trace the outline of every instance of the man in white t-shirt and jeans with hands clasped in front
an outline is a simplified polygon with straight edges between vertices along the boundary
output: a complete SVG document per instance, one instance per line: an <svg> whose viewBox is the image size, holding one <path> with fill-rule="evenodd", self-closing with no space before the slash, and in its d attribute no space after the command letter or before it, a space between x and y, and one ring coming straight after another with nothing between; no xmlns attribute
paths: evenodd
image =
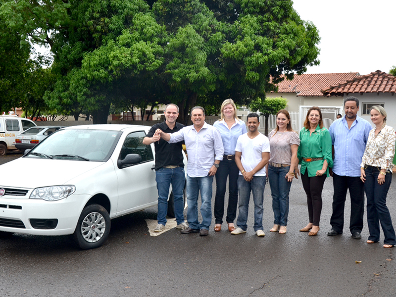
<svg viewBox="0 0 396 297"><path fill-rule="evenodd" d="M241 135L235 148L235 163L240 170L238 178L239 215L238 228L231 234L245 233L247 230L247 215L250 192L254 201L254 226L257 236L265 236L263 231L263 199L266 182L265 165L269 160L269 141L258 132L260 125L257 113L247 115L248 132Z"/></svg>

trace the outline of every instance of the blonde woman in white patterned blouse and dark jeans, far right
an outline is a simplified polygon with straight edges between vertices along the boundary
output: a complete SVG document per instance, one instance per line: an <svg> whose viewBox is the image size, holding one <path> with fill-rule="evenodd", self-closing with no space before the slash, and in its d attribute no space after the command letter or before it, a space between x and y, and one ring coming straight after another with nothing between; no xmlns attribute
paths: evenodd
<svg viewBox="0 0 396 297"><path fill-rule="evenodd" d="M386 205L392 182L393 158L395 155L395 130L386 125L387 113L382 106L370 110L375 128L370 131L366 149L360 164L360 179L367 197L367 224L370 236L368 244L380 240L380 223L384 232L384 247L396 245L395 230Z"/></svg>

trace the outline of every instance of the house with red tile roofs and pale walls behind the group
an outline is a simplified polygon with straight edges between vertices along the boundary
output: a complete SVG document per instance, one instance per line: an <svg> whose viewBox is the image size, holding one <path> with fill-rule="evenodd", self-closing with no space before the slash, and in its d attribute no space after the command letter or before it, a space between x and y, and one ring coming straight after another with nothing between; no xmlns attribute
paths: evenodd
<svg viewBox="0 0 396 297"><path fill-rule="evenodd" d="M369 113L373 105L396 111L395 91L396 77L377 70L367 75L358 72L295 75L293 80L279 83L278 92L266 95L289 100L287 110L298 112L298 119L295 117L292 125L299 130L311 106L321 108L324 124L330 127L338 113L344 115L343 101L349 96L359 99L358 115L371 123ZM396 127L396 118L394 122L388 117L388 124Z"/></svg>

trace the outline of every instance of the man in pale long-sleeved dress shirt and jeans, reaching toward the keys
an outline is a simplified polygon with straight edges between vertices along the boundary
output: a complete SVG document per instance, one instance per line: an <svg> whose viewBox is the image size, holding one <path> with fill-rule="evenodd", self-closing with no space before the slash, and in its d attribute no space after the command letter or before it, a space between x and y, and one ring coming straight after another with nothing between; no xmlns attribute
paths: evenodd
<svg viewBox="0 0 396 297"><path fill-rule="evenodd" d="M200 236L209 234L212 221L212 183L217 167L223 159L224 148L220 132L205 122L205 110L196 106L191 109L192 126L187 126L172 134L161 130L156 133L169 143L183 141L188 154L187 165L187 221L189 227L181 231L183 234L198 233ZM198 221L198 195L201 194L202 222Z"/></svg>

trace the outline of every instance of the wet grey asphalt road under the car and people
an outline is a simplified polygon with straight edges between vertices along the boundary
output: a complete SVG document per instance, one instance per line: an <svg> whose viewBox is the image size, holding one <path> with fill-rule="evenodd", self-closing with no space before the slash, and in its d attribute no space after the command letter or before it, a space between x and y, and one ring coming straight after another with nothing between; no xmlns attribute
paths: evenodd
<svg viewBox="0 0 396 297"><path fill-rule="evenodd" d="M20 155L0 157L0 163ZM38 168L27 171L40 172ZM69 236L1 239L0 296L396 296L396 249L366 244L367 225L361 240L352 239L347 228L348 201L344 234L327 236L332 182L332 178L325 182L321 230L316 237L298 232L308 222L299 179L292 184L285 235L269 232L273 213L267 185L263 238L254 234L250 205L248 230L241 235L231 235L225 223L224 230L215 233L213 221L207 237L182 235L176 229L152 237L148 222L155 220L156 208L151 207L112 220L107 242L97 249L79 250ZM394 221L395 183L388 194Z"/></svg>

